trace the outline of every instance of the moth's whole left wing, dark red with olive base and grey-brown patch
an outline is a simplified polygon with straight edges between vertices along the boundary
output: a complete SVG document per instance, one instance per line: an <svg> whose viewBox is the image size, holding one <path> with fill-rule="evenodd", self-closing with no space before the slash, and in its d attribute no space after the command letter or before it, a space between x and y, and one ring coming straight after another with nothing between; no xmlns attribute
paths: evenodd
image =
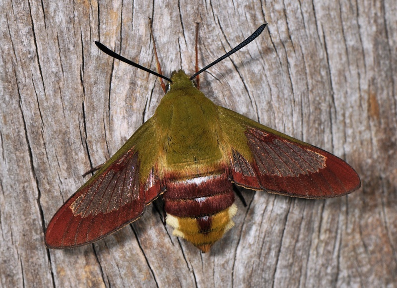
<svg viewBox="0 0 397 288"><path fill-rule="evenodd" d="M99 240L138 219L145 205L164 192L152 130L149 119L58 210L45 234L49 248L72 248Z"/></svg>

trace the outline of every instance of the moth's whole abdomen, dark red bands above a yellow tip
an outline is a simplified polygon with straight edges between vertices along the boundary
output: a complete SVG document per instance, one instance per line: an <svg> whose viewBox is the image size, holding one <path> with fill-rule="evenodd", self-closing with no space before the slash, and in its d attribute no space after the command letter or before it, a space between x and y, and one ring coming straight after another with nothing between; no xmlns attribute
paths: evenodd
<svg viewBox="0 0 397 288"><path fill-rule="evenodd" d="M166 222L173 234L192 242L202 252L234 226L237 212L233 184L226 171L180 178L168 178L163 194Z"/></svg>

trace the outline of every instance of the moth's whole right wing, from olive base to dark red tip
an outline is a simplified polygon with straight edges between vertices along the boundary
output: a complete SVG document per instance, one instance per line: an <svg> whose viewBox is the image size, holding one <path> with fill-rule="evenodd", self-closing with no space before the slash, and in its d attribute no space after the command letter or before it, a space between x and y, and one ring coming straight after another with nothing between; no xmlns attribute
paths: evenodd
<svg viewBox="0 0 397 288"><path fill-rule="evenodd" d="M218 109L235 184L313 199L342 196L360 187L354 169L331 153Z"/></svg>

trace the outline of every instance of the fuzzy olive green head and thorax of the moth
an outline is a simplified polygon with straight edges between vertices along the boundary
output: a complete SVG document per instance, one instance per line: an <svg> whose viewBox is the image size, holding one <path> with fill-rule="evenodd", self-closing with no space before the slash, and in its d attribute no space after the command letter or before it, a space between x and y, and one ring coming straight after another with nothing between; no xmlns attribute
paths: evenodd
<svg viewBox="0 0 397 288"><path fill-rule="evenodd" d="M174 71L172 83L155 114L159 143L164 143L170 169L217 163L219 117L217 106L199 91L183 70Z"/></svg>

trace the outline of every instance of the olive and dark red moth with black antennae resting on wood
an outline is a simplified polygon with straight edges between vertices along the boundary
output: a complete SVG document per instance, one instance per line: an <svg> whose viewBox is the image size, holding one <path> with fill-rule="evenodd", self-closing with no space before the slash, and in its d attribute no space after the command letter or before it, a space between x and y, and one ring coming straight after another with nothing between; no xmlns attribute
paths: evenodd
<svg viewBox="0 0 397 288"><path fill-rule="evenodd" d="M234 225L233 185L309 199L360 187L358 174L343 160L216 106L193 82L258 37L265 25L192 77L179 70L168 79L96 42L105 53L169 84L154 115L52 218L45 234L49 248L97 241L137 220L162 195L174 235L207 252Z"/></svg>

